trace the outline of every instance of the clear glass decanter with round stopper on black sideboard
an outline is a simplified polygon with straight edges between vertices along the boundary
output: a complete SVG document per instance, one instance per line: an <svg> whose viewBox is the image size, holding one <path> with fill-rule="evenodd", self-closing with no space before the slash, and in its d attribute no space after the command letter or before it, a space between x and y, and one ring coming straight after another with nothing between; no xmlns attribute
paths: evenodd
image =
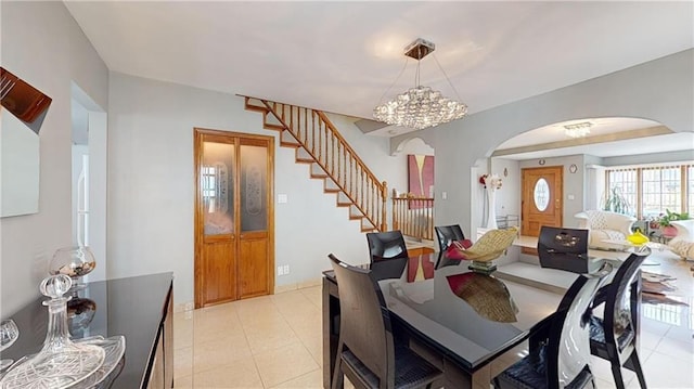
<svg viewBox="0 0 694 389"><path fill-rule="evenodd" d="M72 287L67 275L57 274L44 278L40 290L50 300L48 330L43 348L38 354L12 367L0 380L2 389L65 389L74 387L97 372L103 364L103 348L70 340L67 327L67 301L63 297Z"/></svg>

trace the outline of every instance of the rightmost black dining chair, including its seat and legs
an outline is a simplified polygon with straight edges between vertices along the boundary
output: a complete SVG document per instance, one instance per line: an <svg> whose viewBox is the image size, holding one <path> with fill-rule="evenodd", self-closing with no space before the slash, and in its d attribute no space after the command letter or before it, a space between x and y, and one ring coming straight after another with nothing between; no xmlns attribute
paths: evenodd
<svg viewBox="0 0 694 389"><path fill-rule="evenodd" d="M641 263L650 249L633 252L617 269L612 282L603 286L593 299L593 308L604 304L604 317L590 321L590 351L609 361L615 386L625 388L621 366L637 374L639 385L646 388L638 353L641 308Z"/></svg>

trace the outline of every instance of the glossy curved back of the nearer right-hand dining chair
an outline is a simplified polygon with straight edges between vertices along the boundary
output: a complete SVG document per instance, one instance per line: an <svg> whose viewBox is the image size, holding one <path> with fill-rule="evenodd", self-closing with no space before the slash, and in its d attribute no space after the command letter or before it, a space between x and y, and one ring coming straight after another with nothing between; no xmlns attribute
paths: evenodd
<svg viewBox="0 0 694 389"><path fill-rule="evenodd" d="M590 312L595 291L612 272L612 264L591 275L579 275L568 288L556 312L547 343L547 380L568 386L590 364ZM549 385L548 387L554 387Z"/></svg>

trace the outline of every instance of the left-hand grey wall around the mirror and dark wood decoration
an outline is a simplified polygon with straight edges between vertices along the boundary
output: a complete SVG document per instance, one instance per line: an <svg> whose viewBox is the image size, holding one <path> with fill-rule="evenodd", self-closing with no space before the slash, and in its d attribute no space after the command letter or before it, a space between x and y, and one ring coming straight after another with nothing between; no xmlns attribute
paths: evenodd
<svg viewBox="0 0 694 389"><path fill-rule="evenodd" d="M108 69L60 1L2 1L2 66L53 99L40 131L39 212L0 219L0 316L38 297L72 242L70 80L107 105Z"/></svg>

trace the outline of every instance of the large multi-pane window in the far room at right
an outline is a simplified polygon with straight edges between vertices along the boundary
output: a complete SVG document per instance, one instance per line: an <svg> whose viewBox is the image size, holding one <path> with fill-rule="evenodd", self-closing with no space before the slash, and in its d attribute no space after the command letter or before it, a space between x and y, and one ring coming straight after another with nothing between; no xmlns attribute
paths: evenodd
<svg viewBox="0 0 694 389"><path fill-rule="evenodd" d="M607 191L617 189L632 208L629 213L647 219L665 213L694 211L694 165L639 166L607 169Z"/></svg>

